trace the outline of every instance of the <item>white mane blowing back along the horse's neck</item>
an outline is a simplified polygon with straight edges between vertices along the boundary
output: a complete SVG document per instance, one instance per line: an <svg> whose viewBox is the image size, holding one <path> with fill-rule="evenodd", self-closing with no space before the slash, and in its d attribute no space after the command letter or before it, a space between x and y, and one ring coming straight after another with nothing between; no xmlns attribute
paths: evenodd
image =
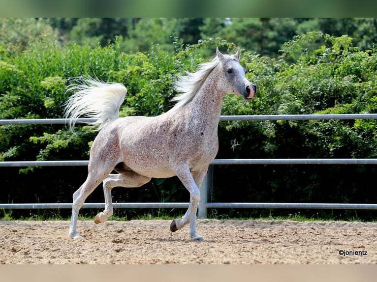
<svg viewBox="0 0 377 282"><path fill-rule="evenodd" d="M231 55L224 55L223 59L219 59L217 56L210 61L201 63L199 69L193 73L187 72L186 76L179 76L178 81L173 85L174 90L182 92L181 94L176 95L171 99L171 101L176 101L174 108L179 108L186 105L195 94L199 91L203 82L207 79L211 71L216 68L221 62L225 63L226 61L234 58Z"/></svg>

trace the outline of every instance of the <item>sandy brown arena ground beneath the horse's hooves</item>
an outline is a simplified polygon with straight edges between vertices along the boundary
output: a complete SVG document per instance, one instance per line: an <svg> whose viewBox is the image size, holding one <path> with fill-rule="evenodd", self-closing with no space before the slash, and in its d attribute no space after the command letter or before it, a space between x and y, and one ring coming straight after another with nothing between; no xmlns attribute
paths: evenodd
<svg viewBox="0 0 377 282"><path fill-rule="evenodd" d="M0 221L0 264L376 264L377 223L198 220ZM343 253L342 253L343 252Z"/></svg>

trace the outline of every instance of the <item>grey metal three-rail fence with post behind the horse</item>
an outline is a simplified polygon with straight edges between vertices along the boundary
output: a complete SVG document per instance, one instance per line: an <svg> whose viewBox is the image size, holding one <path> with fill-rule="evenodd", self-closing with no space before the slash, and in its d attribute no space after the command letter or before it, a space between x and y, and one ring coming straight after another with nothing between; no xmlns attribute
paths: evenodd
<svg viewBox="0 0 377 282"><path fill-rule="evenodd" d="M330 120L330 119L377 119L377 113L364 114L291 114L291 115L222 115L220 121L251 120ZM79 118L77 123L94 122L93 118ZM0 125L69 124L71 119L9 119ZM50 167L87 166L89 161L17 161L0 162L0 167ZM208 208L292 208L292 209L367 209L376 210L377 204L361 203L212 203L208 193L212 187L213 165L376 165L377 159L215 159L200 187L199 217L207 216ZM188 203L113 203L115 208L187 208ZM102 208L104 203L84 203L83 208ZM4 209L63 209L72 203L0 203Z"/></svg>

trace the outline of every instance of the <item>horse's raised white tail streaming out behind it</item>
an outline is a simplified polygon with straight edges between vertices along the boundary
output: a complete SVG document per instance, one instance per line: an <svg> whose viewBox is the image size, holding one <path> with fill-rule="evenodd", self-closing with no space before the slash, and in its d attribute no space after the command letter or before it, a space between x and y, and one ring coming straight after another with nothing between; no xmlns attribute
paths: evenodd
<svg viewBox="0 0 377 282"><path fill-rule="evenodd" d="M65 103L64 116L72 118L69 123L73 128L77 118L86 116L97 118L91 123L100 130L108 121L119 117L119 109L125 100L127 89L120 83L102 83L94 79L84 79L83 84L71 85L69 91L75 91Z"/></svg>

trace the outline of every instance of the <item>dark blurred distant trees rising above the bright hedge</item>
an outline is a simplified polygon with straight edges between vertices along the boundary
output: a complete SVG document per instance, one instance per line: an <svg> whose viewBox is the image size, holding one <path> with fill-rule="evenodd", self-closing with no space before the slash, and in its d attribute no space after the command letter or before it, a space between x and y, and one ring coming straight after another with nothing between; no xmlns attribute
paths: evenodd
<svg viewBox="0 0 377 282"><path fill-rule="evenodd" d="M18 19L15 26L21 30L24 26L33 27L31 21L35 19L28 23ZM126 53L148 52L151 45L157 44L172 51L170 37L173 35L182 38L186 45L220 37L271 57L279 56L283 43L294 35L309 31L336 37L348 34L361 50L372 48L377 40L375 18L49 18L37 23L39 28L35 28L35 34L39 34L41 24L50 23L59 31L61 40L92 47L98 43L112 44L119 37L121 50Z"/></svg>

